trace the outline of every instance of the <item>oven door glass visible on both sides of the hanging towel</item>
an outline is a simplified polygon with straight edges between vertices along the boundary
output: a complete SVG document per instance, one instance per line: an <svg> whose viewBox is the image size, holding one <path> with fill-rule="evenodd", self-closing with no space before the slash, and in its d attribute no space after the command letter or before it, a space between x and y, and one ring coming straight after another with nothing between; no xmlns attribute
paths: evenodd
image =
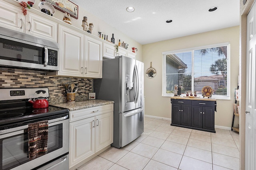
<svg viewBox="0 0 256 170"><path fill-rule="evenodd" d="M48 152L62 148L63 124L48 127ZM28 131L14 136L0 139L2 170L9 170L29 161L28 158Z"/></svg>

